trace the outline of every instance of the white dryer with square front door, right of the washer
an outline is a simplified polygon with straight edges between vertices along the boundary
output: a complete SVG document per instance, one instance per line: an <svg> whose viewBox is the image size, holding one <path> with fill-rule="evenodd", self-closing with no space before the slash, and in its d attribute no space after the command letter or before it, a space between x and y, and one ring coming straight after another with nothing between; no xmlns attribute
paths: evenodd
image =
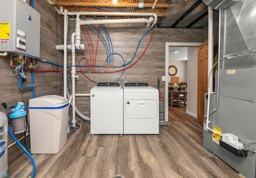
<svg viewBox="0 0 256 178"><path fill-rule="evenodd" d="M159 134L159 91L148 83L124 83L124 134Z"/></svg>

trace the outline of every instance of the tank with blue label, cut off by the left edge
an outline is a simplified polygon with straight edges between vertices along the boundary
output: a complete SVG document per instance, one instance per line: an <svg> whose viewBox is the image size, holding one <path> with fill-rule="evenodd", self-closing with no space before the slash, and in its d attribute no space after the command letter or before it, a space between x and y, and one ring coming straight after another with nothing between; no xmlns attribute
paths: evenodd
<svg viewBox="0 0 256 178"><path fill-rule="evenodd" d="M8 120L6 115L0 112L0 176L4 175L8 169L7 133Z"/></svg>

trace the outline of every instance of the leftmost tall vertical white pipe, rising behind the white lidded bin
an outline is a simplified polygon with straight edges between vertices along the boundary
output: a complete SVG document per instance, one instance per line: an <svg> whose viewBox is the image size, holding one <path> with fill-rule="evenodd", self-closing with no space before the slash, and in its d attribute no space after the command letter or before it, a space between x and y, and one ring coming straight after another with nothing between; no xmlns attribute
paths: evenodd
<svg viewBox="0 0 256 178"><path fill-rule="evenodd" d="M67 30L67 10L64 10L64 46L67 46L67 36L68 36L68 30ZM64 98L67 98L67 48L64 47L63 49L63 96Z"/></svg>

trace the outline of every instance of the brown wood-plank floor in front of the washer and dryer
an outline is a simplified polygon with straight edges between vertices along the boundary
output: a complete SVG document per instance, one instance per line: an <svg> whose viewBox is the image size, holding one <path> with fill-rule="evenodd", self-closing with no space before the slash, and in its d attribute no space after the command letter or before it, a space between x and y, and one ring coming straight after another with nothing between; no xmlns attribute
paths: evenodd
<svg viewBox="0 0 256 178"><path fill-rule="evenodd" d="M90 135L90 123L68 135L58 154L32 154L36 178L235 178L238 173L202 148L203 127L182 106L169 107L158 135ZM11 154L11 153L9 153ZM25 153L9 163L10 177L27 178Z"/></svg>

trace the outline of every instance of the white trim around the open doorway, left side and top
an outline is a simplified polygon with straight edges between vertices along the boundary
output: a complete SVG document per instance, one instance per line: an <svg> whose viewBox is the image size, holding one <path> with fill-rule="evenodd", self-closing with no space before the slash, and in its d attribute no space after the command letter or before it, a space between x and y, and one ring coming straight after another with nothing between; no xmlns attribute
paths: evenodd
<svg viewBox="0 0 256 178"><path fill-rule="evenodd" d="M166 42L165 43L165 121L168 121L168 66L169 66L169 47L183 46L195 47L200 46L202 43L186 43L186 42Z"/></svg>

